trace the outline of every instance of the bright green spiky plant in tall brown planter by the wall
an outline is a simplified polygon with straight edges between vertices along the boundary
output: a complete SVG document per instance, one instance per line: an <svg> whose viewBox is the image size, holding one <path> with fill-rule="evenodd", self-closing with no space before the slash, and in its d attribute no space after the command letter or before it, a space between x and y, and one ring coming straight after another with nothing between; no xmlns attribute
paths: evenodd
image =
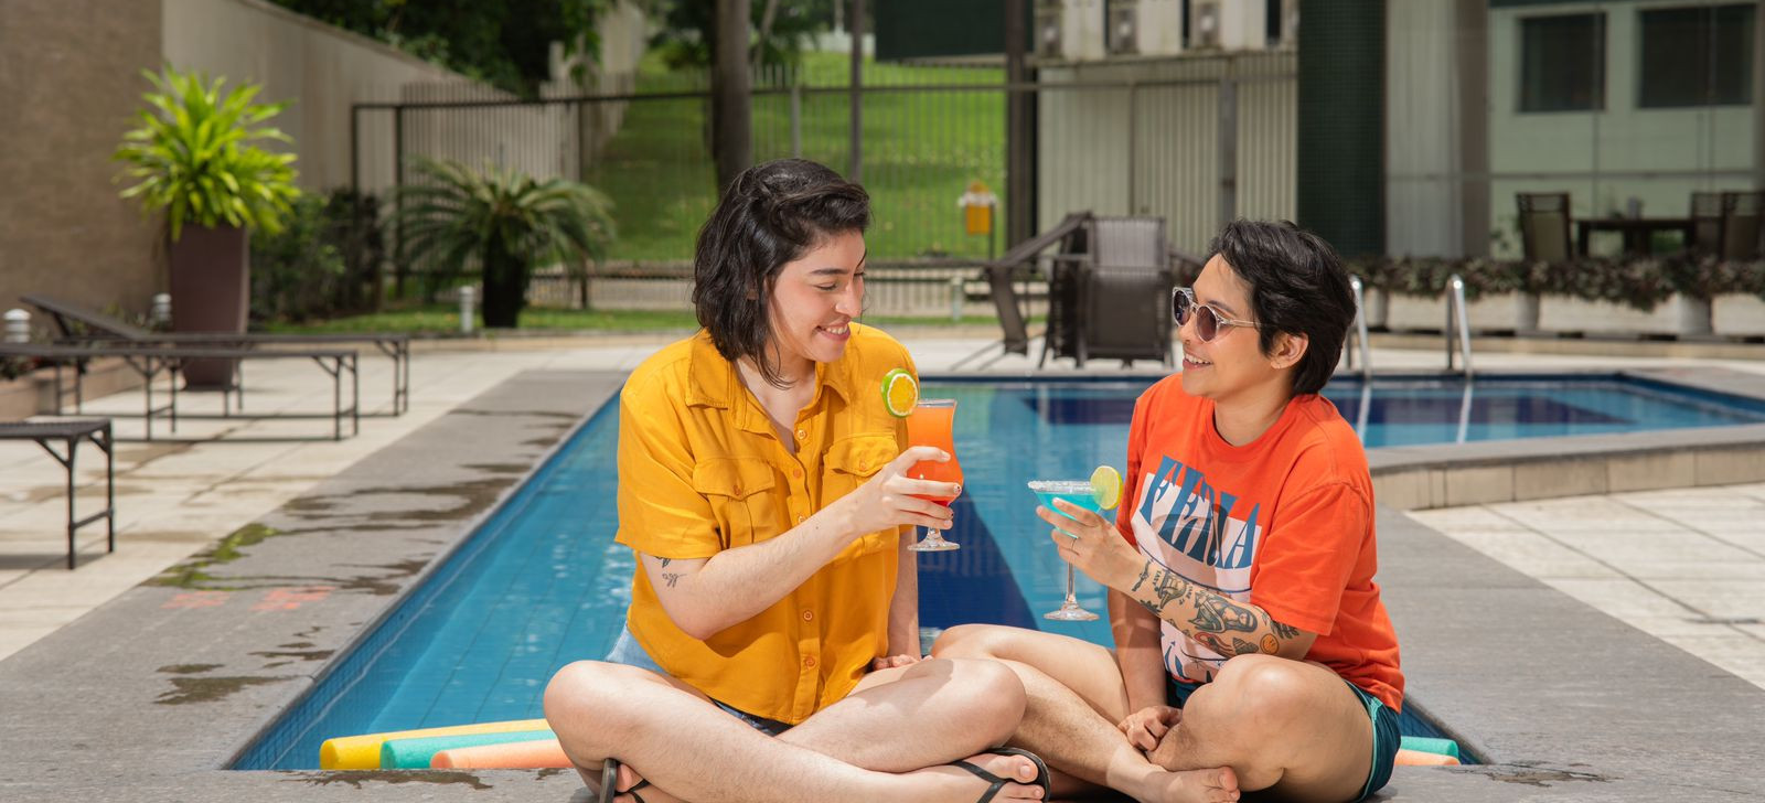
<svg viewBox="0 0 1765 803"><path fill-rule="evenodd" d="M176 332L244 332L251 296L251 229L279 231L295 187L293 154L258 143L291 139L265 120L286 104L258 104L256 85L224 92L224 79L166 67L143 71L154 85L141 99L139 127L124 134L115 159L136 182L122 191L146 212L164 212L171 240L171 326ZM228 360L191 364L189 386L228 386Z"/></svg>

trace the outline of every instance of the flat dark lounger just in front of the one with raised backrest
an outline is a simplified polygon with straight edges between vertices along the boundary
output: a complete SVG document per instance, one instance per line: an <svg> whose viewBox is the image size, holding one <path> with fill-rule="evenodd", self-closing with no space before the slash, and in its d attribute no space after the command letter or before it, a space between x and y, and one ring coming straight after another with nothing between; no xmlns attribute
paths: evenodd
<svg viewBox="0 0 1765 803"><path fill-rule="evenodd" d="M312 360L332 378L332 439L342 439L342 418L349 415L349 434L362 431L362 381L358 356L355 349L258 349L258 348L187 348L187 346L152 346L116 341L97 341L81 346L41 344L41 342L5 342L0 344L0 358L21 356L49 362L55 367L55 415L62 413L65 395L62 367L74 365L74 411L85 406L85 365L102 356L118 356L141 374L146 397L146 439L154 439L154 418L168 415L171 431L178 431L178 383L176 372L191 360ZM171 378L171 402L154 406L154 381L166 374ZM342 378L349 374L349 406L342 406ZM222 392L222 415L231 417L231 399L242 394L238 383ZM240 399L244 399L240 395Z"/></svg>

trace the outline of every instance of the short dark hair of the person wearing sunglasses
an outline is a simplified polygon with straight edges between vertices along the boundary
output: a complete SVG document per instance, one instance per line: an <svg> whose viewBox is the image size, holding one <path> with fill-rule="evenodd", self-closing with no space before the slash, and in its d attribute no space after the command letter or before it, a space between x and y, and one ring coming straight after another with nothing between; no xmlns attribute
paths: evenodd
<svg viewBox="0 0 1765 803"><path fill-rule="evenodd" d="M1290 221L1232 221L1209 251L1250 286L1264 355L1274 351L1281 332L1310 341L1294 371L1294 394L1324 390L1356 314L1354 289L1336 249Z"/></svg>

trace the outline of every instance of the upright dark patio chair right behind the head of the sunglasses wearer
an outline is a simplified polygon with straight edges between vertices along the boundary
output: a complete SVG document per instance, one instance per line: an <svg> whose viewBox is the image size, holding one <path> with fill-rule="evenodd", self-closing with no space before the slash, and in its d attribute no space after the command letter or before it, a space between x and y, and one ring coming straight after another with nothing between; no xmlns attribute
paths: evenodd
<svg viewBox="0 0 1765 803"><path fill-rule="evenodd" d="M1124 365L1160 360L1170 367L1175 272L1170 268L1165 221L1094 217L1087 229L1089 258L1073 275L1078 318L1068 355L1078 367L1098 358L1123 360Z"/></svg>

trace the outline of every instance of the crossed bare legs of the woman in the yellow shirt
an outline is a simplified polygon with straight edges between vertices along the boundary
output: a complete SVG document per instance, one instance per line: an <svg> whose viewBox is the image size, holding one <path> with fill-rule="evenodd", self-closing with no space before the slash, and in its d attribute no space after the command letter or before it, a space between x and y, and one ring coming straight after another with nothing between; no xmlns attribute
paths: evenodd
<svg viewBox="0 0 1765 803"><path fill-rule="evenodd" d="M995 664L925 660L868 674L844 701L770 738L697 690L620 664L577 662L545 688L545 718L584 780L620 759L650 780L646 803L870 801L971 803L987 784L953 766L962 757L1001 777L995 799L1036 799L1036 766L978 755L1004 743L1024 711L1017 676ZM632 798L621 798L632 799Z"/></svg>

